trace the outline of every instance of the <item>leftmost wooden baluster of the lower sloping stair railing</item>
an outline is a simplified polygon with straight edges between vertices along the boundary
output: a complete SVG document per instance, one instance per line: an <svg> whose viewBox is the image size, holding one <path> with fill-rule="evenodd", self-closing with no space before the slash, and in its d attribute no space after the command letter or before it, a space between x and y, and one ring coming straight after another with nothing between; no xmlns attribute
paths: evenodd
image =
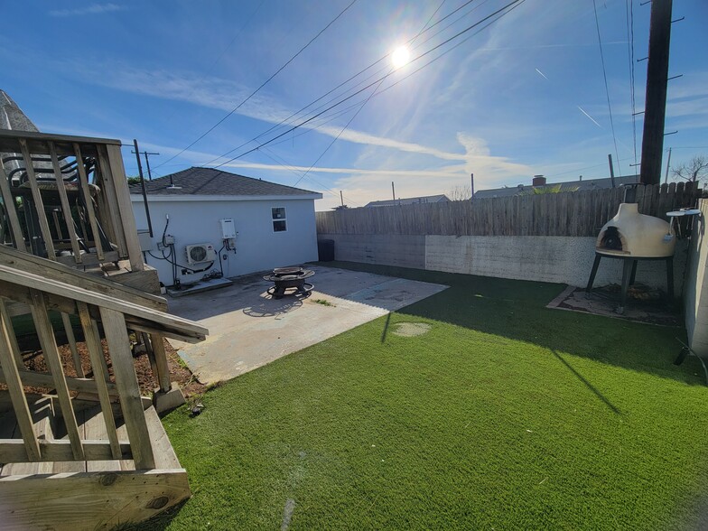
<svg viewBox="0 0 708 531"><path fill-rule="evenodd" d="M19 350L16 350L16 345L17 339L14 337L12 321L9 320L7 312L2 312L2 318L0 318L0 365L3 367L7 390L13 402L14 415L17 417L17 424L23 435L27 459L41 461L40 444L34 436L32 415L29 405L27 405L27 398L24 396L20 373L17 370L16 359L19 356Z"/></svg>

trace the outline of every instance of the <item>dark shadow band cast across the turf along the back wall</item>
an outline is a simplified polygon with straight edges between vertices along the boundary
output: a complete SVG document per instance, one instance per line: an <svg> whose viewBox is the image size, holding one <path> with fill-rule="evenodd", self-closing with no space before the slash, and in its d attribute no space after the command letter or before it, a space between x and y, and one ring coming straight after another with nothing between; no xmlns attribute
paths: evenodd
<svg viewBox="0 0 708 531"><path fill-rule="evenodd" d="M352 262L321 265L450 286L402 308L397 312L399 315L448 322L510 340L526 341L553 351L556 357L558 352L563 352L691 385L705 384L698 359L686 359L679 367L673 363L681 348L676 339L685 341L683 327L655 326L546 308L546 304L564 290L565 284ZM382 339L386 338L387 326ZM597 394L592 384L564 359L559 359Z"/></svg>

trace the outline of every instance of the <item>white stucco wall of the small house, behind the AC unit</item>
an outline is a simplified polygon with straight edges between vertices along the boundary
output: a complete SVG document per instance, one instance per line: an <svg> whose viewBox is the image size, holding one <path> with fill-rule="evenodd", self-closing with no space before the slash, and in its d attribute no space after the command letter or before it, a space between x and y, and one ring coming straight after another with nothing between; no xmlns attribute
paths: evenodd
<svg viewBox="0 0 708 531"><path fill-rule="evenodd" d="M133 199L135 223L138 229L147 228L142 197ZM210 243L219 249L223 241L219 219L234 220L238 232L236 254L222 250L224 276L247 275L283 265L299 265L317 260L317 233L314 219L314 200L151 200L148 197L150 217L153 222L151 252L162 256L157 243L163 236L165 216L170 216L167 234L175 240L176 262L193 269L205 265L187 263L185 247L192 244ZM287 230L273 231L271 209L284 207ZM166 254L166 253L165 253ZM157 269L160 281L172 285L172 265L165 260L147 255L146 262ZM209 272L219 271L216 262ZM182 266L177 267L177 278L182 283L199 280L205 273L182 275Z"/></svg>

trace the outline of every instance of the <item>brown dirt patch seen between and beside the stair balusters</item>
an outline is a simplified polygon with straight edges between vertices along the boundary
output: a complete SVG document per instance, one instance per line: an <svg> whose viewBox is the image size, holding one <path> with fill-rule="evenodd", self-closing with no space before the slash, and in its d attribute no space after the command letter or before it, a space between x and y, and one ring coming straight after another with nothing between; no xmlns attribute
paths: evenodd
<svg viewBox="0 0 708 531"><path fill-rule="evenodd" d="M113 376L113 367L111 365L110 357L108 356L106 340L101 341L103 346L103 356L106 359L108 374L110 380L115 382ZM78 341L77 350L79 351L79 357L81 358L81 367L83 368L85 377L93 377L93 368L89 360L89 352L86 349L86 343L83 341ZM180 359L177 352L172 349L172 345L166 340L164 341L164 349L167 354L167 365L170 369L170 380L172 382L177 382L182 388L182 393L185 397L200 395L206 390L206 386L200 383L200 381L191 374L189 368L187 368ZM59 347L59 353L61 357L61 364L64 368L64 374L69 377L77 377L76 368L74 367L73 358L71 356L71 350L69 345L61 345ZM36 372L49 372L47 368L46 361L44 360L44 355L42 350L26 350L23 351L23 362L24 367L27 370L33 370ZM140 393L143 396L152 396L157 383L153 377L153 369L150 367L150 360L147 354L141 353L133 357L133 362L135 366L135 375L137 376L138 385L140 386ZM0 389L6 389L4 384L0 384ZM47 393L51 389L43 387L30 387L25 386L25 393Z"/></svg>

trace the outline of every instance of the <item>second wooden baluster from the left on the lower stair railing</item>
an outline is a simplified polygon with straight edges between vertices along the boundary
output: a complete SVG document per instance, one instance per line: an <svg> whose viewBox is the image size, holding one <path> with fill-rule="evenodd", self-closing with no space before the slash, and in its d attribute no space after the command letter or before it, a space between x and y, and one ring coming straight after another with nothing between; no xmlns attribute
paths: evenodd
<svg viewBox="0 0 708 531"><path fill-rule="evenodd" d="M71 452L74 455L74 460L84 461L85 457L83 447L81 446L81 438L79 436L79 425L76 422L74 408L71 405L69 387L67 387L66 379L64 377L64 369L61 366L59 349L57 348L57 341L54 338L54 330L51 327L51 321L49 319L49 314L47 313L46 301L43 293L37 290L31 289L30 295L32 296L32 304L30 305L30 309L32 310L34 326L37 329L37 336L40 340L40 345L42 346L44 361L47 363L47 367L51 369L51 376L54 378L54 387L57 391L57 399L61 407L61 415L64 418L64 424L66 424L67 434L69 435Z"/></svg>

